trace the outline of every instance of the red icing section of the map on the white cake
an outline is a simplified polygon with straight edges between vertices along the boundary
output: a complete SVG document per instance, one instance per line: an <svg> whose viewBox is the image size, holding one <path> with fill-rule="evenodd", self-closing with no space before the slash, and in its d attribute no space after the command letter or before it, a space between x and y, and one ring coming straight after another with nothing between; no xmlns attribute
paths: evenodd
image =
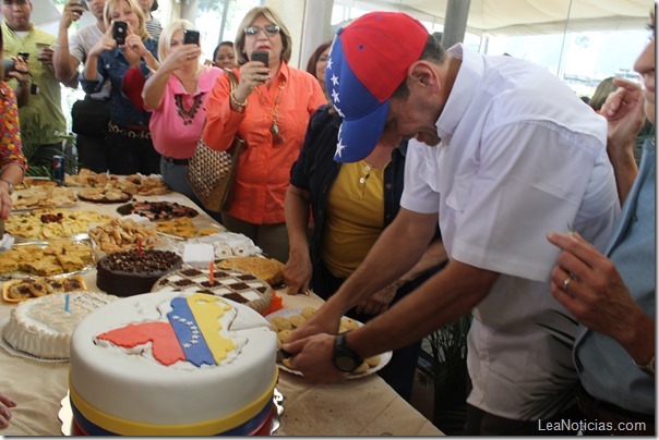
<svg viewBox="0 0 659 440"><path fill-rule="evenodd" d="M124 349L133 349L152 342L153 355L163 365L185 360L183 350L169 322L129 323L125 327L106 331L97 338Z"/></svg>

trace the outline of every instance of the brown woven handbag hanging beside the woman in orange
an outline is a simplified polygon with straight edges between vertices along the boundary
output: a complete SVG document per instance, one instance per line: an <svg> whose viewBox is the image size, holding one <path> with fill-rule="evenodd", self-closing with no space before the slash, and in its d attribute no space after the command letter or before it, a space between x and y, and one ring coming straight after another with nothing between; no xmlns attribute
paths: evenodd
<svg viewBox="0 0 659 440"><path fill-rule="evenodd" d="M238 80L230 70L226 70L226 72L229 75L231 91L233 91L238 87ZM229 208L238 157L243 147L244 139L238 135L225 151L214 150L202 138L199 139L194 154L190 158L185 178L207 210L221 212Z"/></svg>

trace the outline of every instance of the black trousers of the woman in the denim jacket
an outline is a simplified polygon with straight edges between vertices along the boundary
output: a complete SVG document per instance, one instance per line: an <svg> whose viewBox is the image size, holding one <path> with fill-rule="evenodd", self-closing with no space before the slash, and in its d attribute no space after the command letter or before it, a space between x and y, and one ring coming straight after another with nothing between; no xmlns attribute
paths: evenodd
<svg viewBox="0 0 659 440"><path fill-rule="evenodd" d="M108 168L110 173L159 174L160 154L149 138L130 137L122 133L108 133Z"/></svg>

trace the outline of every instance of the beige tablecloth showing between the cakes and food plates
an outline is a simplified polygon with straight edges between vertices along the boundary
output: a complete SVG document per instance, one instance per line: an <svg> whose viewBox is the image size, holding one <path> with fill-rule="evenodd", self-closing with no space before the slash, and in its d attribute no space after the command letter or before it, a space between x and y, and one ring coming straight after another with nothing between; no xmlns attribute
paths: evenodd
<svg viewBox="0 0 659 440"><path fill-rule="evenodd" d="M140 197L148 199L148 197ZM200 210L200 221L213 222L189 198L169 194L153 198L178 201ZM115 213L117 205L79 203L73 209L97 209ZM89 290L96 288L96 271L83 278ZM315 295L289 296L279 293L284 307L320 306ZM9 318L13 304L1 302L0 326ZM0 349L0 392L17 406L2 436L59 436L61 400L67 395L69 363L46 363L13 356ZM284 415L277 436L441 436L442 432L403 400L378 375L334 384L314 384L303 378L280 372L277 390L284 395Z"/></svg>

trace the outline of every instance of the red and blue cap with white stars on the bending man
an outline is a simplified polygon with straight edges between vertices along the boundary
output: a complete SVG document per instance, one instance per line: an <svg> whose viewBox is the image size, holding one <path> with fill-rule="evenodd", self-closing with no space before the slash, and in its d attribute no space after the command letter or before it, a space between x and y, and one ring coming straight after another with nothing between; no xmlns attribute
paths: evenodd
<svg viewBox="0 0 659 440"><path fill-rule="evenodd" d="M339 28L330 50L325 84L343 123L334 160L367 157L382 135L390 98L421 57L428 30L399 12L371 12Z"/></svg>

